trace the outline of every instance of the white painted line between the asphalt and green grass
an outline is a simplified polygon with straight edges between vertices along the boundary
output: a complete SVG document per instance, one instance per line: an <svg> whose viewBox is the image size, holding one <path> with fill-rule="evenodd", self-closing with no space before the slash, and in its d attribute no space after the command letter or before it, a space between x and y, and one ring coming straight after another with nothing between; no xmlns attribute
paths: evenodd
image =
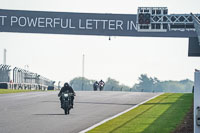
<svg viewBox="0 0 200 133"><path fill-rule="evenodd" d="M137 108L138 106L140 106L140 105L142 105L142 104L144 104L144 103L146 103L146 102L148 102L148 101L150 101L150 100L152 100L152 99L154 99L154 98L156 98L156 97L158 97L158 96L160 96L160 95L162 95L162 94L164 94L164 93L160 93L160 94L158 94L158 95L156 95L156 96L154 96L154 97L152 97L152 98L149 98L149 99L147 99L147 100L145 100L145 101L143 101L143 102L141 102L141 103L139 103L139 104L137 104L137 105L135 105L135 106L133 106L133 107L131 107L131 108L125 110L125 111L123 111L123 112L120 112L120 113L118 113L118 114L116 114L116 115L114 115L114 116L111 116L111 117L109 117L109 118L107 118L107 119L105 119L105 120L103 120L103 121L101 121L101 122L99 122L99 123L97 123L97 124L95 124L95 125L93 125L93 126L87 128L87 129L85 129L85 130L80 131L79 133L86 133L86 132L88 132L88 131L94 129L95 127L98 127L98 126L100 126L101 124L103 124L103 123L105 123L105 122L107 122L107 121L109 121L109 120L112 120L112 119L114 119L114 118L116 118L116 117L118 117L118 116L120 116L120 115L122 115L122 114L124 114L124 113L126 113L126 112L128 112L128 111L130 111L130 110L132 110L132 109L134 109L134 108Z"/></svg>

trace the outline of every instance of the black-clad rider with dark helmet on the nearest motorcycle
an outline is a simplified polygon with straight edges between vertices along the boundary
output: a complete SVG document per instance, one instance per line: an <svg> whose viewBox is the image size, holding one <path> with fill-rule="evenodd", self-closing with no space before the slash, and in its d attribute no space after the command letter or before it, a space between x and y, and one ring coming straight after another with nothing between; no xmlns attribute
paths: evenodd
<svg viewBox="0 0 200 133"><path fill-rule="evenodd" d="M58 97L60 97L61 107L62 107L62 102L63 102L61 94L63 92L73 93L73 95L71 96L71 99L72 99L72 108L73 108L75 92L74 92L73 88L67 82L64 84L64 86L61 88L60 92L58 93Z"/></svg>

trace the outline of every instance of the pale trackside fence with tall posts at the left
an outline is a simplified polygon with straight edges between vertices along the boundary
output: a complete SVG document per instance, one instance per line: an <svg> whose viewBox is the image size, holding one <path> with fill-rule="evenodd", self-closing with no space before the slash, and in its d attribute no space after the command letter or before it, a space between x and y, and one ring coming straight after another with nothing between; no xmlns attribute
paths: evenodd
<svg viewBox="0 0 200 133"><path fill-rule="evenodd" d="M55 81L47 79L37 73L30 72L25 69L11 66L0 65L0 88L5 89L34 89L45 90L54 89ZM11 80L12 72L12 80Z"/></svg>

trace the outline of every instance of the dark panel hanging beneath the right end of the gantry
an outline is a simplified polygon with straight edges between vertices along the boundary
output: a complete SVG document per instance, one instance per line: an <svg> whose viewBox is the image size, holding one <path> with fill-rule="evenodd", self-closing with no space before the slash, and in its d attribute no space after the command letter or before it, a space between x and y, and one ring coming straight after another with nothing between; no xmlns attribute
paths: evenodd
<svg viewBox="0 0 200 133"><path fill-rule="evenodd" d="M200 45L197 37L189 38L188 56L191 57L200 56Z"/></svg>

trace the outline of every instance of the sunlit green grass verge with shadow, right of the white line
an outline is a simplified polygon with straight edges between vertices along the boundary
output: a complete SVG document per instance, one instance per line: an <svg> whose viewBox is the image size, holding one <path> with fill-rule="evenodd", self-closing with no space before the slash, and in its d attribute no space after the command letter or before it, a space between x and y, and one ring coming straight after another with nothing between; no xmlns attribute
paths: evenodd
<svg viewBox="0 0 200 133"><path fill-rule="evenodd" d="M170 133L192 107L193 94L166 93L88 133Z"/></svg>

